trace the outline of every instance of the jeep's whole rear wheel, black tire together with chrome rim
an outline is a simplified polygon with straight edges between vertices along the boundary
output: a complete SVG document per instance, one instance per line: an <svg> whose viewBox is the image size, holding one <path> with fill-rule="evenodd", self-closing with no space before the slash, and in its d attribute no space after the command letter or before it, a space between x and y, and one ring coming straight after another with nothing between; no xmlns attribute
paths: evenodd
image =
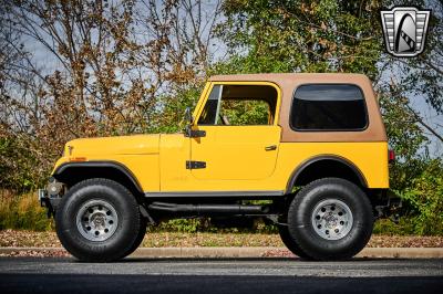
<svg viewBox="0 0 443 294"><path fill-rule="evenodd" d="M343 260L360 252L373 229L365 193L354 183L324 178L307 185L292 200L288 230L313 260Z"/></svg>

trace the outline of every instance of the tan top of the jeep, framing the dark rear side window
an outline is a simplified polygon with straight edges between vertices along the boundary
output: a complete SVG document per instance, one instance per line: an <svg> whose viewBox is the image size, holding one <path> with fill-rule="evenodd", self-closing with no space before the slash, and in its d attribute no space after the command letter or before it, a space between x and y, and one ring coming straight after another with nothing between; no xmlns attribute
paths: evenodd
<svg viewBox="0 0 443 294"><path fill-rule="evenodd" d="M387 134L371 81L363 74L347 73L267 73L215 75L212 82L271 82L281 91L279 125L281 141L387 141ZM363 92L369 116L364 130L296 132L289 126L289 112L295 90L302 84L354 84Z"/></svg>

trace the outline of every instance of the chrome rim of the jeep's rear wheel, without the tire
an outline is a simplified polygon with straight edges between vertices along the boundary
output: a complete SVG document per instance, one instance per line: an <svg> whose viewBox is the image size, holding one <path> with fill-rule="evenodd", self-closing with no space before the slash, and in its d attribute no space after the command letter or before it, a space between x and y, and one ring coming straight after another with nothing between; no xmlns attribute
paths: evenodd
<svg viewBox="0 0 443 294"><path fill-rule="evenodd" d="M320 201L312 212L312 227L326 240L339 240L352 229L353 218L349 207L338 199Z"/></svg>

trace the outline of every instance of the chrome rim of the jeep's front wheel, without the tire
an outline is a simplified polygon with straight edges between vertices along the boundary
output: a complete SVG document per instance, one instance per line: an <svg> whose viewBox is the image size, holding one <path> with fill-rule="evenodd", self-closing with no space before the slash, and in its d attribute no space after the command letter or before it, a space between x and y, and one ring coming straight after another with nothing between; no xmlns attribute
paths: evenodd
<svg viewBox="0 0 443 294"><path fill-rule="evenodd" d="M76 213L76 228L90 241L110 239L119 225L114 207L103 200L90 200Z"/></svg>

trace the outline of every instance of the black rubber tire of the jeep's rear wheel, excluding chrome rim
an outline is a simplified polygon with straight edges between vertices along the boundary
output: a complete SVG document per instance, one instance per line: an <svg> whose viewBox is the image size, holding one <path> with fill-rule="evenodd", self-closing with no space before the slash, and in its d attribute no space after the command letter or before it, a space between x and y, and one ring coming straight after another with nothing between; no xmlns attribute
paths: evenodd
<svg viewBox="0 0 443 294"><path fill-rule="evenodd" d="M322 200L338 199L352 212L350 232L339 240L326 240L312 227L312 212ZM373 228L369 199L354 183L342 179L322 179L305 187L293 199L288 212L288 229L302 251L318 260L348 259L368 243Z"/></svg>

